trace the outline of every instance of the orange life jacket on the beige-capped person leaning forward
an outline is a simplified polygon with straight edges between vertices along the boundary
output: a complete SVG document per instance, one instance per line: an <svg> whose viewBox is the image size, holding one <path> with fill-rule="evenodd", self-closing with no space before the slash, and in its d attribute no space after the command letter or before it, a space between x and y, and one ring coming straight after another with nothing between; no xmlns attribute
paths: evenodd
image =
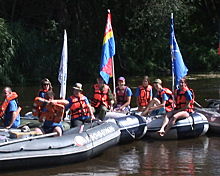
<svg viewBox="0 0 220 176"><path fill-rule="evenodd" d="M168 98L169 98L166 101L165 110L167 112L170 112L173 110L173 93L172 93L172 91L170 89L164 87L164 88L162 88L162 91L157 92L157 95L159 97L160 102L162 102L163 94L165 94L165 93L168 95Z"/></svg>

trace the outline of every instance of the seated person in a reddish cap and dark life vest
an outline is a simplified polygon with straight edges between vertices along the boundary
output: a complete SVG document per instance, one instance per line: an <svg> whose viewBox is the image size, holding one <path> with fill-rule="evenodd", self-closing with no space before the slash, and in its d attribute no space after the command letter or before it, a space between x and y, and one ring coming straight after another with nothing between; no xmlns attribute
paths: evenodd
<svg viewBox="0 0 220 176"><path fill-rule="evenodd" d="M131 96L133 95L131 89L125 86L125 78L118 78L118 86L116 87L116 95L114 95L115 105L114 111L127 113L130 111Z"/></svg>

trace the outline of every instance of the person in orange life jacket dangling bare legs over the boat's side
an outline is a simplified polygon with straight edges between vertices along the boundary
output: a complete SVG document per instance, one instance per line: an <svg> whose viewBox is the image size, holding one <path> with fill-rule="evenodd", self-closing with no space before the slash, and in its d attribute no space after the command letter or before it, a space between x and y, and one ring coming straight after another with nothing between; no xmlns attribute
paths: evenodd
<svg viewBox="0 0 220 176"><path fill-rule="evenodd" d="M186 78L182 78L179 81L179 88L175 91L176 107L173 111L166 114L163 124L158 131L160 136L164 136L178 119L185 119L194 112L194 99L193 90L188 88Z"/></svg>

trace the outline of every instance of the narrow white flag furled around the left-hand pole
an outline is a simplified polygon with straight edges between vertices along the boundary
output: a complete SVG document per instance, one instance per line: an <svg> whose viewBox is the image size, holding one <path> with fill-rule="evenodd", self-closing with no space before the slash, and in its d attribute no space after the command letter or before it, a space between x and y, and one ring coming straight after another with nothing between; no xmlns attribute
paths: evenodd
<svg viewBox="0 0 220 176"><path fill-rule="evenodd" d="M58 80L61 84L60 98L63 98L63 99L65 99L66 97L67 62L68 62L67 34L66 34L66 30L64 30L63 50L62 50L60 69L59 69L59 75L58 75Z"/></svg>

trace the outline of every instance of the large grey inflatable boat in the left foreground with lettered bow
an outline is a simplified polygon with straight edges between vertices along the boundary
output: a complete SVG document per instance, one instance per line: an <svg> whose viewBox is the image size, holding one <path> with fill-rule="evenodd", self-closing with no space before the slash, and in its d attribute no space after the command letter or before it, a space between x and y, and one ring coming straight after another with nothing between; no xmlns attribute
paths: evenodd
<svg viewBox="0 0 220 176"><path fill-rule="evenodd" d="M88 160L119 142L120 129L108 120L64 131L61 137L18 129L0 130L0 170L48 167ZM25 136L25 137L24 137Z"/></svg>

